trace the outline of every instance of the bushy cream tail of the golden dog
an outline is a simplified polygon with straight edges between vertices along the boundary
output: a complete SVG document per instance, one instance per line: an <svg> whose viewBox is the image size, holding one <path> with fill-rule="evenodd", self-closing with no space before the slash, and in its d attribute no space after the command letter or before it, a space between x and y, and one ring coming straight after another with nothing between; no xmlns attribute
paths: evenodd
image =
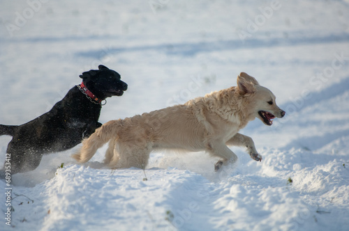
<svg viewBox="0 0 349 231"><path fill-rule="evenodd" d="M101 148L111 138L117 138L117 133L121 127L121 120L106 122L102 127L96 129L96 132L91 134L89 138L82 141L82 148L72 157L79 163L86 163L94 156L98 148Z"/></svg>

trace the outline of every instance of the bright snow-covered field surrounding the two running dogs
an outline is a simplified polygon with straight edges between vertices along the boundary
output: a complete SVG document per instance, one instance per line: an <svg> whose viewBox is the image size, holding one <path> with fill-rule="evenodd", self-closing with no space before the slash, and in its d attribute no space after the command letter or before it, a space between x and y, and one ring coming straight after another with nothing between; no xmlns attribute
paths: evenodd
<svg viewBox="0 0 349 231"><path fill-rule="evenodd" d="M153 153L144 171L103 168L106 147L83 166L78 147L48 154L13 175L11 226L0 180L0 230L349 230L349 1L0 4L0 124L50 110L99 64L129 87L100 122L236 86L239 72L286 111L241 131L262 162L232 147L238 164L221 173L204 152Z"/></svg>

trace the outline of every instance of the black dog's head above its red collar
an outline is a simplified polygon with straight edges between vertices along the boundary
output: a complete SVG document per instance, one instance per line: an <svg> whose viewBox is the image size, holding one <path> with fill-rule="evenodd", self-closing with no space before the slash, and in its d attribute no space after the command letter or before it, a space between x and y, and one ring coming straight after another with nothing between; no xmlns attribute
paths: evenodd
<svg viewBox="0 0 349 231"><path fill-rule="evenodd" d="M121 81L119 73L103 65L99 65L98 69L89 70L80 75L87 89L96 97L103 99L124 94L124 90L127 90L127 84Z"/></svg>

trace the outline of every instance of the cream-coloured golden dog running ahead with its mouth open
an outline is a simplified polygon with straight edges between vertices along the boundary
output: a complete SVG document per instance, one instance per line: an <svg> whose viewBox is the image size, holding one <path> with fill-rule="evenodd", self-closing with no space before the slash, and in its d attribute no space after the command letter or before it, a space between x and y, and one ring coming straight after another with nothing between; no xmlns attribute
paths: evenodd
<svg viewBox="0 0 349 231"><path fill-rule="evenodd" d="M256 117L272 125L272 118L281 118L284 114L276 106L273 93L242 72L237 77L237 87L142 116L106 122L82 141L80 152L73 158L80 163L87 162L98 148L109 142L104 163L110 168L145 168L152 150L175 149L205 150L220 157L215 168L218 170L228 161L237 161L236 154L227 145L244 146L253 159L261 161L252 138L237 132Z"/></svg>

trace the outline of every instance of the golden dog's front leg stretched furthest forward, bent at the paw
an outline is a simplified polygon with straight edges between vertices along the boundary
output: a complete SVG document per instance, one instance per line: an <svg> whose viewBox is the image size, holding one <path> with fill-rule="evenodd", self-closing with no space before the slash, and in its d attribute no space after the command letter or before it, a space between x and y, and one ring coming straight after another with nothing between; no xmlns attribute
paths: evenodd
<svg viewBox="0 0 349 231"><path fill-rule="evenodd" d="M255 161L262 161L262 156L258 154L257 150L255 150L255 143L252 138L249 136L244 136L243 134L235 134L232 136L229 141L226 143L227 145L235 145L235 146L244 146L247 148L248 154Z"/></svg>

